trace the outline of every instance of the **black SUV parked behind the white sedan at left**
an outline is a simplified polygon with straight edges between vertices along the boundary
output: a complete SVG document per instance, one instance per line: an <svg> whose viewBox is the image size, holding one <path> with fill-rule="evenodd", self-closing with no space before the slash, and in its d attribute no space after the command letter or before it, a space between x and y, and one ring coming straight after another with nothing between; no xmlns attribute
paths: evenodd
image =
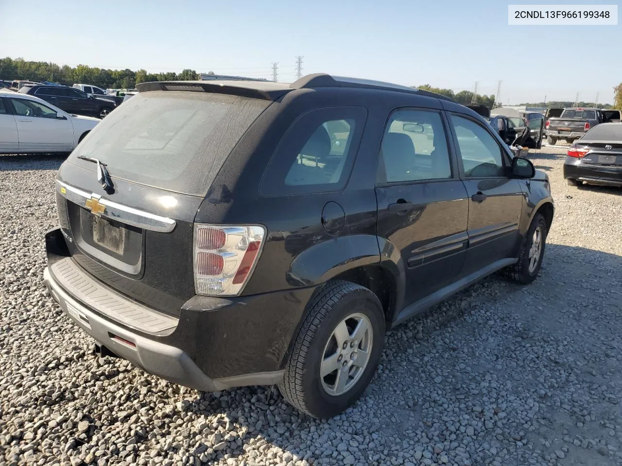
<svg viewBox="0 0 622 466"><path fill-rule="evenodd" d="M79 89L67 86L26 85L20 88L19 92L37 96L75 115L104 118L116 107L110 99L88 96Z"/></svg>

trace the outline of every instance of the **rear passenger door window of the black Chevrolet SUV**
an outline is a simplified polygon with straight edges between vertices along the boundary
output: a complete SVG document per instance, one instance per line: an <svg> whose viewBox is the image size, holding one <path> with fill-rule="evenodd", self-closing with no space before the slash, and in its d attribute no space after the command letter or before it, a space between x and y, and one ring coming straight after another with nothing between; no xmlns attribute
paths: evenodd
<svg viewBox="0 0 622 466"><path fill-rule="evenodd" d="M388 183L451 178L440 114L406 109L392 114L384 132L378 170L378 180Z"/></svg>

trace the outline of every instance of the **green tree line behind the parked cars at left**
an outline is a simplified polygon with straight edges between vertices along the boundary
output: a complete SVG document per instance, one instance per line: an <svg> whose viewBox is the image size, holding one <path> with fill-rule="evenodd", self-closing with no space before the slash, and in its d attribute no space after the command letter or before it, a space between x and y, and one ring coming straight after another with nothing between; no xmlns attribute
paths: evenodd
<svg viewBox="0 0 622 466"><path fill-rule="evenodd" d="M213 75L214 72L210 71ZM197 80L195 70L181 73L147 73L146 70L105 70L93 66L58 66L50 62L29 62L23 58L1 58L0 80L50 81L71 86L75 83L95 85L104 89L133 89L139 83L150 81L189 81Z"/></svg>

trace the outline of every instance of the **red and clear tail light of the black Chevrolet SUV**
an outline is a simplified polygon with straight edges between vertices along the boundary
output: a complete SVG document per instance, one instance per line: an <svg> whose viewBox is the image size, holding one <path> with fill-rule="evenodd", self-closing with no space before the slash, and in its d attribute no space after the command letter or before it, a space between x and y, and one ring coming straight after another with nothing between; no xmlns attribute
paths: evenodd
<svg viewBox="0 0 622 466"><path fill-rule="evenodd" d="M194 276L198 295L236 296L257 263L266 229L195 223Z"/></svg>

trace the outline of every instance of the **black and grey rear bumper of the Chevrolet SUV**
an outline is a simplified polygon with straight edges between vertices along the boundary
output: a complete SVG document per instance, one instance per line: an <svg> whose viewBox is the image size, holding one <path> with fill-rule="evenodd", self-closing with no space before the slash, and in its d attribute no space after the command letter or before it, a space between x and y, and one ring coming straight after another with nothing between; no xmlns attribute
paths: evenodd
<svg viewBox="0 0 622 466"><path fill-rule="evenodd" d="M196 390L273 385L315 287L262 295L193 296L179 318L98 281L68 255L60 229L46 234L44 280L61 308L100 345L158 377Z"/></svg>

